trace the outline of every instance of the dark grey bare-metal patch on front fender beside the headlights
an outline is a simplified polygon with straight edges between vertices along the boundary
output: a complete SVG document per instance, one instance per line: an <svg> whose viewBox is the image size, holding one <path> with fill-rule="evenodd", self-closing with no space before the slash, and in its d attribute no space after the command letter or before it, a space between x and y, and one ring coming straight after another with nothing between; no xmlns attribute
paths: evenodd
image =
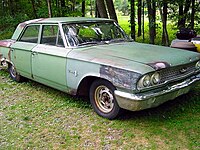
<svg viewBox="0 0 200 150"><path fill-rule="evenodd" d="M136 83L141 74L102 65L100 68L100 76L109 80L117 87L136 90Z"/></svg>

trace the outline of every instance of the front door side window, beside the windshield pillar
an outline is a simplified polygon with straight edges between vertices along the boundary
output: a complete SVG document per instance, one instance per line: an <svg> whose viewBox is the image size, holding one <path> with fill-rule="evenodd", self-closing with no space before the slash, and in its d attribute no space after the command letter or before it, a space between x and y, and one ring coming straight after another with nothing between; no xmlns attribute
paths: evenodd
<svg viewBox="0 0 200 150"><path fill-rule="evenodd" d="M41 44L64 47L60 30L57 25L44 25Z"/></svg>

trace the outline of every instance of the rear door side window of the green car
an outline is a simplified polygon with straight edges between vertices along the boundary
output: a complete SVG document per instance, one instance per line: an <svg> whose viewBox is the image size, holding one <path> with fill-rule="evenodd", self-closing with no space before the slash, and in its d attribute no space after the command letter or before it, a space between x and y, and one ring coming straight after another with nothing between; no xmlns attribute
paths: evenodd
<svg viewBox="0 0 200 150"><path fill-rule="evenodd" d="M29 43L37 43L38 42L38 34L39 34L39 25L32 25L28 26L22 35L22 37L19 39L19 41L22 42L29 42Z"/></svg>

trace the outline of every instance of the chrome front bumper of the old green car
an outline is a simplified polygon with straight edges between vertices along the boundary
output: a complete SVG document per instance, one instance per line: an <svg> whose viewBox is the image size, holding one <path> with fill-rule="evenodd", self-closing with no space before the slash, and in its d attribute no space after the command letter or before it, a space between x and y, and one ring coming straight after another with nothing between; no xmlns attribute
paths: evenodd
<svg viewBox="0 0 200 150"><path fill-rule="evenodd" d="M186 94L192 87L200 83L200 74L192 76L183 82L168 86L165 90L157 92L146 92L139 94L126 93L115 90L115 98L121 108L138 111L151 107L156 107L168 100Z"/></svg>

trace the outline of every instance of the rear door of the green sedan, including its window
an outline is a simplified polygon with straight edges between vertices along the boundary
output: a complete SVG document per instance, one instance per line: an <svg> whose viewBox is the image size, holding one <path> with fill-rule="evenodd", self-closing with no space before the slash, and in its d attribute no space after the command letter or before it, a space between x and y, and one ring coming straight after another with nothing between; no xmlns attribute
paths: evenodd
<svg viewBox="0 0 200 150"><path fill-rule="evenodd" d="M32 76L32 49L38 44L40 25L29 25L20 38L11 45L11 60L20 75Z"/></svg>

